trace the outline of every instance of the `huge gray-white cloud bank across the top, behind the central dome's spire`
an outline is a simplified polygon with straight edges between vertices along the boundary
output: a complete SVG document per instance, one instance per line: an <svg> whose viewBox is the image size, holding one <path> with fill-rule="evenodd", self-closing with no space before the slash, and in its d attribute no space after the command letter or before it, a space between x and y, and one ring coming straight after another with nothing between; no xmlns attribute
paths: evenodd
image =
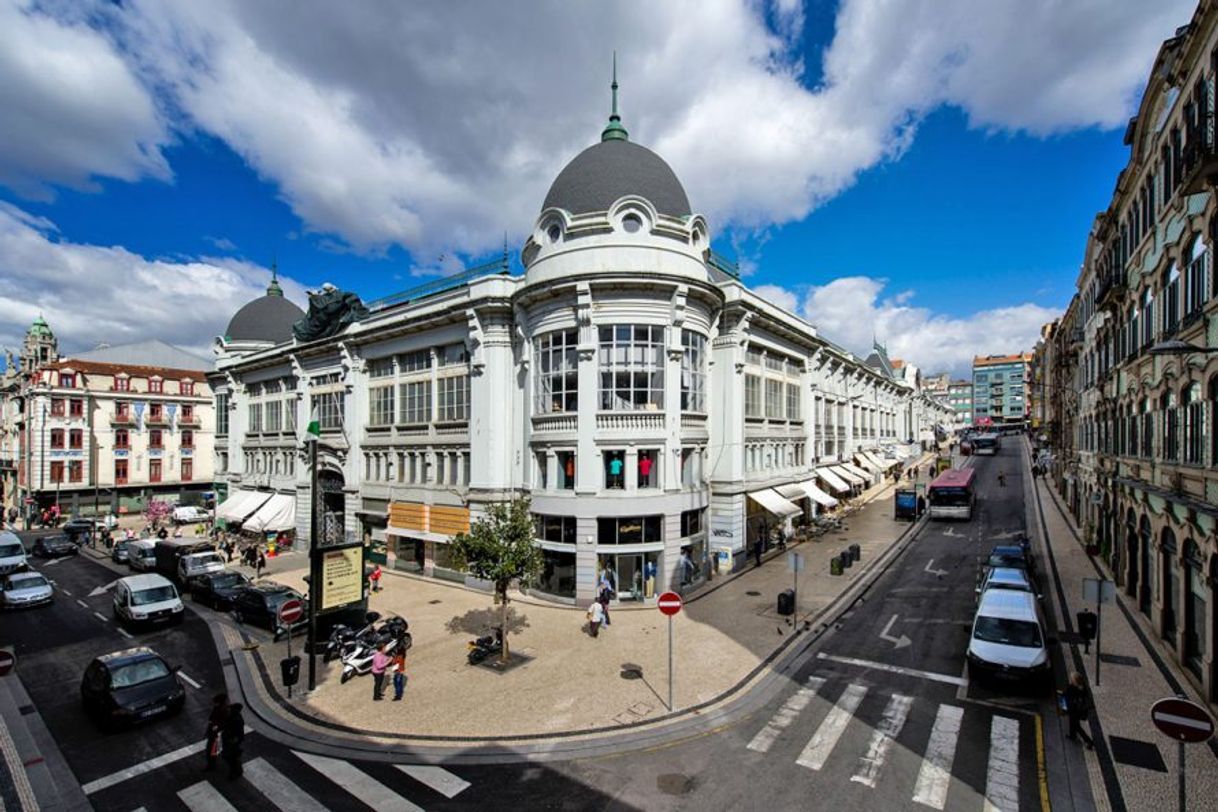
<svg viewBox="0 0 1218 812"><path fill-rule="evenodd" d="M644 0L68 5L58 13L88 18L119 47L99 50L76 21L18 17L80 39L74 51L89 65L114 68L116 52L132 62L102 73L114 74L105 88L128 91L102 96L128 100L104 107L125 151L114 157L105 140L99 155L38 145L45 128L17 138L46 153L23 158L23 169L52 181L163 174L163 134L129 86L139 75L175 128L224 140L307 228L362 251L468 253L530 228L549 181L597 138L618 46L632 138L672 163L715 228L764 229L805 217L899 156L939 105L961 106L983 128L1121 124L1192 5L993 0L979 11L974 0L843 0L815 88L804 79L797 0L705 0L695 12ZM0 86L28 73L12 61L0 61ZM78 95L45 118L73 122Z"/></svg>

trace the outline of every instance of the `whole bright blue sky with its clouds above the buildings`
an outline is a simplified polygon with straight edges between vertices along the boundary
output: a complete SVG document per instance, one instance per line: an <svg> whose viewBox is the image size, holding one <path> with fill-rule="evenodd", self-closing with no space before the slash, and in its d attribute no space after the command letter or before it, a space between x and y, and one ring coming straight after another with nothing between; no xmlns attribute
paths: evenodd
<svg viewBox="0 0 1218 812"><path fill-rule="evenodd" d="M69 351L206 352L273 259L300 302L323 281L365 299L410 287L498 256L504 233L516 262L549 181L603 125L621 43L632 139L672 164L750 285L850 348L876 335L956 371L1029 348L1068 302L1124 122L1191 13L51 9L0 0L7 346L44 312Z"/></svg>

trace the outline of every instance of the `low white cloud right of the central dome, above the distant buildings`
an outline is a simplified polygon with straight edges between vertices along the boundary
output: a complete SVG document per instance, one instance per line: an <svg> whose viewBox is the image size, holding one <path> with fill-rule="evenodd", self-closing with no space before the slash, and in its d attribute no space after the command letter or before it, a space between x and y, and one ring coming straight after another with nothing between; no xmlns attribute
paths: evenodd
<svg viewBox="0 0 1218 812"><path fill-rule="evenodd" d="M801 314L822 336L862 355L871 351L872 338L878 338L890 358L903 358L927 373L946 369L955 374L968 370L974 354L1030 351L1041 325L1058 315L1026 303L949 317L912 304L912 291L882 296L885 284L870 276L843 276L811 287ZM775 301L773 295L767 298Z"/></svg>

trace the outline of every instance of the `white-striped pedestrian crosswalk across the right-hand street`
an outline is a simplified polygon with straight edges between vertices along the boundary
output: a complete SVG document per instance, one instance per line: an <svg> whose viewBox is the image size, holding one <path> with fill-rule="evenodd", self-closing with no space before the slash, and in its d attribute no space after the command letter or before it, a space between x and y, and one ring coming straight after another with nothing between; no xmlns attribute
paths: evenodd
<svg viewBox="0 0 1218 812"><path fill-rule="evenodd" d="M818 701L814 704L814 699ZM800 767L829 774L840 771L843 777L849 774L851 783L875 789L885 780L885 767L900 744L903 757L917 762L917 777L906 796L915 808L945 808L954 785L963 786L959 791L976 797L976 790L965 786L968 782L952 780L954 771L960 768L956 756L966 726L966 709L951 702L938 704L927 733L924 721L921 729L909 724L920 701L933 700L917 700L860 682L849 682L838 689L825 677L809 677L753 735L747 747L759 754L798 751L795 763ZM865 711L866 721L862 718ZM1015 713L1005 715L990 707L973 706L967 712L976 715L968 722L973 726L973 739L979 737L978 726L989 727L988 738L977 744L971 739L965 747L966 752L979 756L978 745L988 743L985 789L979 807L983 812L1017 812L1021 803L1021 729L1030 735L1032 728L1027 722L1021 728L1021 719ZM928 717L929 709L921 718ZM844 747L843 741L853 744ZM912 769L896 772L914 774ZM968 803L957 799L952 808L957 807L968 808Z"/></svg>

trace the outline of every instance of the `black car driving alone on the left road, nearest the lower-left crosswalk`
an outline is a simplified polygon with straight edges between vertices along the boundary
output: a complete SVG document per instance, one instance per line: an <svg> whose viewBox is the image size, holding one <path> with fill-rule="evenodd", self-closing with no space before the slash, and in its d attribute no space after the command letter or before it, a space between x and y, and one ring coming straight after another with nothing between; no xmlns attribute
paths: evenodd
<svg viewBox="0 0 1218 812"><path fill-rule="evenodd" d="M80 681L80 702L104 727L173 716L185 701L177 668L147 646L97 657Z"/></svg>

